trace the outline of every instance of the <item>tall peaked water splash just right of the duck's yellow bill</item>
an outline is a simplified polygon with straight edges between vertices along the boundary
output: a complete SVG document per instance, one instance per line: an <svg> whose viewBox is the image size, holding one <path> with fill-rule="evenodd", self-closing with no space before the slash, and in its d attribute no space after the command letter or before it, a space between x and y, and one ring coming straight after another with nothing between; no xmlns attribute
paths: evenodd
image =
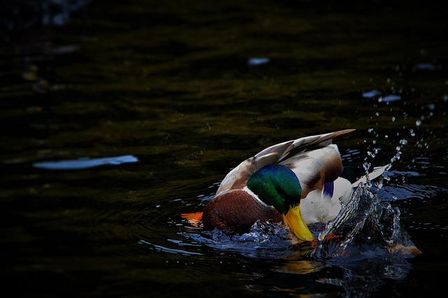
<svg viewBox="0 0 448 298"><path fill-rule="evenodd" d="M359 255L366 250L384 250L385 256L421 253L400 225L400 211L358 185L349 204L318 235L313 252L316 259Z"/></svg>

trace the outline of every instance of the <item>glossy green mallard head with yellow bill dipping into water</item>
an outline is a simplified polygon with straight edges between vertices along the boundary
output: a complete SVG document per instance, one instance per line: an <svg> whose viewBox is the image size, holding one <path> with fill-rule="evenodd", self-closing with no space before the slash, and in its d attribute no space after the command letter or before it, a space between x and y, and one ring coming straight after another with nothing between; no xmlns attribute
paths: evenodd
<svg viewBox="0 0 448 298"><path fill-rule="evenodd" d="M263 166L251 175L246 186L260 201L279 211L283 221L298 239L314 240L300 212L302 187L291 169L280 164Z"/></svg>

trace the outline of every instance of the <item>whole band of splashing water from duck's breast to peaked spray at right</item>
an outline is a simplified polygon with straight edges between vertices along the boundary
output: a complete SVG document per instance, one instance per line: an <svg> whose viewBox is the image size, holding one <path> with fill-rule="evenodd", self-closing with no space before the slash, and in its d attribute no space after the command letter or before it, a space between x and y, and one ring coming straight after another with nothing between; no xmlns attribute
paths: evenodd
<svg viewBox="0 0 448 298"><path fill-rule="evenodd" d="M211 248L249 257L285 257L299 253L314 260L334 260L366 253L371 256L373 252L381 255L380 258L421 253L401 227L399 209L381 201L378 192L372 192L374 189L368 183L360 183L335 220L309 227L317 238L313 243L296 245L286 227L269 220L258 220L244 234L227 234L219 229L182 234Z"/></svg>

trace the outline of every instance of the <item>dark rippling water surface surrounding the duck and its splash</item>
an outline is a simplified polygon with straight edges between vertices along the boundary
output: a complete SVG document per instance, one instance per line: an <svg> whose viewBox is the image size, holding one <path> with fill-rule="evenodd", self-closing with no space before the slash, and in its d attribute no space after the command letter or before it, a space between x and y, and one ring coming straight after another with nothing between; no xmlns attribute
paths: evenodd
<svg viewBox="0 0 448 298"><path fill-rule="evenodd" d="M444 10L417 1L87 2L4 4L5 291L400 297L444 290ZM397 212L421 255L363 242L345 256L313 257L313 248L291 246L281 234L235 241L181 218L202 211L225 174L262 148L346 128L357 130L337 141L344 163L392 162L376 198Z"/></svg>

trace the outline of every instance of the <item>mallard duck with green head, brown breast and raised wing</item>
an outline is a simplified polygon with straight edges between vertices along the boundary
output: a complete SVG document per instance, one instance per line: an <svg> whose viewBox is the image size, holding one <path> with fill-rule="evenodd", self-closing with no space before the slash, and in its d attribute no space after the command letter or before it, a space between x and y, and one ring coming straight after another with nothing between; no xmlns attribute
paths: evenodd
<svg viewBox="0 0 448 298"><path fill-rule="evenodd" d="M334 220L359 183L381 176L388 165L351 183L341 176L333 139L356 129L304 136L265 148L232 169L202 213L183 215L205 230L250 232L258 220L282 222L300 242L313 241L309 225Z"/></svg>

